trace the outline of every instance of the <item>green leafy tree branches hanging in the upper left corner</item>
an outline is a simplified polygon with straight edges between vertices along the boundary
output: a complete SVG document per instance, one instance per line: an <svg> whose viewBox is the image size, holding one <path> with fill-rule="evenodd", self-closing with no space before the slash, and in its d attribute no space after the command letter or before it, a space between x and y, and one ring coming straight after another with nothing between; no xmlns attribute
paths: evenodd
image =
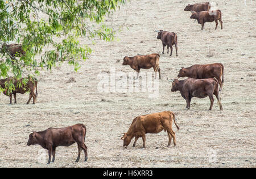
<svg viewBox="0 0 256 179"><path fill-rule="evenodd" d="M40 70L51 70L65 61L77 71L79 61L85 61L92 52L79 39L113 40L114 32L104 25L104 18L123 3L124 0L0 0L0 44L14 41L26 52L13 58L0 46L0 79L10 74L15 78L39 75Z"/></svg>

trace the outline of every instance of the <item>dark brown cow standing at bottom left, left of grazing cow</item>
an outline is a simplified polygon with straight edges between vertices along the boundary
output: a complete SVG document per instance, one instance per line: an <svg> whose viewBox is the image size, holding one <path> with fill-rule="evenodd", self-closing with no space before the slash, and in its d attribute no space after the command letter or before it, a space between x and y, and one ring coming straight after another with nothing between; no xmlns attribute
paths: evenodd
<svg viewBox="0 0 256 179"><path fill-rule="evenodd" d="M85 135L86 127L81 123L64 128L49 128L40 132L33 131L29 136L27 146L38 144L47 149L49 154L49 164L51 163L51 156L53 156L52 163L55 161L56 147L68 147L77 143L79 155L77 156L76 162L79 162L82 150L84 150L86 161L88 156L87 147L84 143Z"/></svg>

